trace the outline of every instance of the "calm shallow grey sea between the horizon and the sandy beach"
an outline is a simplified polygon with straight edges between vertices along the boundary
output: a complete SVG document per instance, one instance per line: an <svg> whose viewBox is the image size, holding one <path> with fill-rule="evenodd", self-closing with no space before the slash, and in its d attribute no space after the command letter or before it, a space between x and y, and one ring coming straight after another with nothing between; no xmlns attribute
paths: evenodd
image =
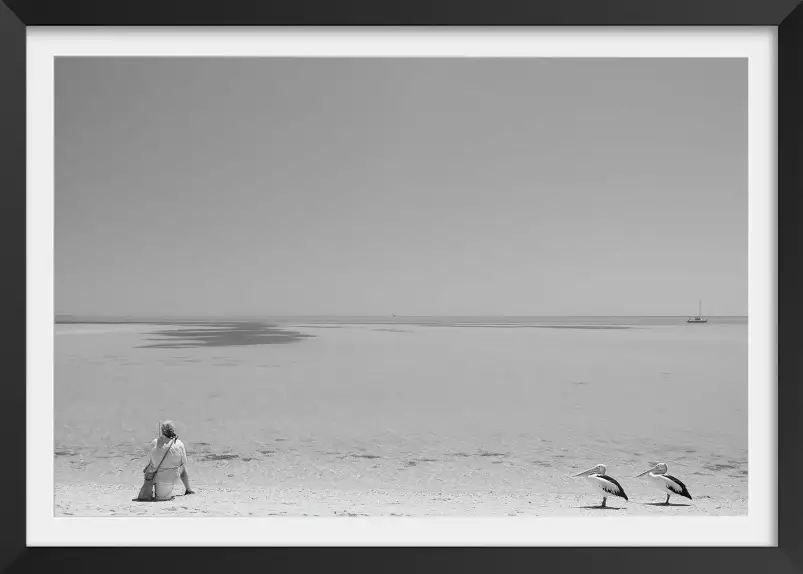
<svg viewBox="0 0 803 574"><path fill-rule="evenodd" d="M169 418L196 484L550 491L664 461L746 497L747 319L685 319L58 323L56 483L137 485Z"/></svg>

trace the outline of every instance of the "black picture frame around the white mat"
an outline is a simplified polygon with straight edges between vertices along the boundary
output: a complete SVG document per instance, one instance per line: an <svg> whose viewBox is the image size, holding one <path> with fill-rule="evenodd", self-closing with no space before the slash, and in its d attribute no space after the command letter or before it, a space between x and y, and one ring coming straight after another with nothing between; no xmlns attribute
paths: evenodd
<svg viewBox="0 0 803 574"><path fill-rule="evenodd" d="M8 572L314 569L366 571L803 572L803 6L800 0L4 0L0 4L0 345L4 437L0 568ZM777 26L778 540L777 548L27 548L26 27L27 26ZM10 326L10 328L9 328ZM783 336L781 336L783 335ZM42 493L52 496L52 493ZM177 526L180 528L180 526ZM611 523L615 527L615 522ZM166 533L169 539L169 533Z"/></svg>

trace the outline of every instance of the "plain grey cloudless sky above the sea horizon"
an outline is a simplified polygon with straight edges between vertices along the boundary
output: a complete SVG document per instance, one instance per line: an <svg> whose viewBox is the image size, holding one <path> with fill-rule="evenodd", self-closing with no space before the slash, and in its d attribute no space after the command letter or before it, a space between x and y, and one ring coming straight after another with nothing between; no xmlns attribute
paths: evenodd
<svg viewBox="0 0 803 574"><path fill-rule="evenodd" d="M741 59L58 58L55 308L747 314Z"/></svg>

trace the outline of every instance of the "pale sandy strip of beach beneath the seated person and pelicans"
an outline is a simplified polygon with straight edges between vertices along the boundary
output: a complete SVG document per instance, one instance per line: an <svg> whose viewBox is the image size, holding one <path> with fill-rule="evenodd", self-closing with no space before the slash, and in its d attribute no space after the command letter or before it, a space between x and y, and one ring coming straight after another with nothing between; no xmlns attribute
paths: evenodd
<svg viewBox="0 0 803 574"><path fill-rule="evenodd" d="M220 487L193 485L195 494L169 501L136 502L136 485L72 482L56 485L55 517L504 517L504 516L746 516L747 497L694 500L673 497L659 503L660 493L625 501L608 498L597 505L592 493L536 493L527 490L431 491L303 487ZM174 492L180 493L176 486Z"/></svg>

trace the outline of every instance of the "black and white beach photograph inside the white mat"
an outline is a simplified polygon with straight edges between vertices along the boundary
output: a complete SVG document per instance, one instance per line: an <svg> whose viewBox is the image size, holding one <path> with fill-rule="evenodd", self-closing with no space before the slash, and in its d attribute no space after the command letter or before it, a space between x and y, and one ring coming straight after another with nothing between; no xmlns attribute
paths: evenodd
<svg viewBox="0 0 803 574"><path fill-rule="evenodd" d="M747 516L746 58L53 87L56 517Z"/></svg>

